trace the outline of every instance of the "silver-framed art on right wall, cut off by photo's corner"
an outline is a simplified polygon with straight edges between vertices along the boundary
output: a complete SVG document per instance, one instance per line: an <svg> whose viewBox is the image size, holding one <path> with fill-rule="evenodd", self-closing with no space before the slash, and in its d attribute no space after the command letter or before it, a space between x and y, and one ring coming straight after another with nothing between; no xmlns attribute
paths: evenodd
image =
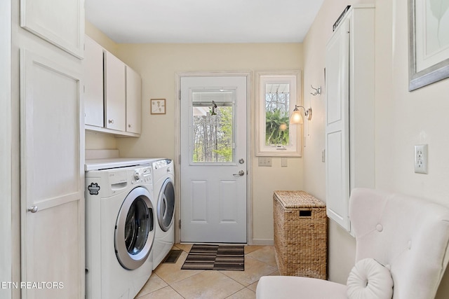
<svg viewBox="0 0 449 299"><path fill-rule="evenodd" d="M449 1L408 0L408 22L412 91L449 77Z"/></svg>

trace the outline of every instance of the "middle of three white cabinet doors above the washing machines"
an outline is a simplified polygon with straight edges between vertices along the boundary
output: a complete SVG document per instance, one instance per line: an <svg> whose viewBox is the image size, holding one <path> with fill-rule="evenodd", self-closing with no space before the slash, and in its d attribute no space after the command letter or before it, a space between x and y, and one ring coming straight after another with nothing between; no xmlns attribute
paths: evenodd
<svg viewBox="0 0 449 299"><path fill-rule="evenodd" d="M105 127L125 131L126 114L125 64L109 52L105 53Z"/></svg>

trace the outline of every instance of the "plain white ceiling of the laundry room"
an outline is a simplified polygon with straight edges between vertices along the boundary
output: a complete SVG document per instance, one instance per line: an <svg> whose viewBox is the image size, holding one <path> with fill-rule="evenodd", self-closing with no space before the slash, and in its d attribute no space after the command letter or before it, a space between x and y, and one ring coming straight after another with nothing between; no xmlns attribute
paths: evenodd
<svg viewBox="0 0 449 299"><path fill-rule="evenodd" d="M116 43L302 42L323 0L86 0Z"/></svg>

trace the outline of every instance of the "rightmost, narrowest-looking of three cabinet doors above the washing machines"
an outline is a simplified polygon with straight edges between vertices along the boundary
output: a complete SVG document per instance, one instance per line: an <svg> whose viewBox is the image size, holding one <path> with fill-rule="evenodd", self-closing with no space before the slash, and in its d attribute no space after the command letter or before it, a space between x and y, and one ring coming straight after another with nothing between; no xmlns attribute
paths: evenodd
<svg viewBox="0 0 449 299"><path fill-rule="evenodd" d="M141 132L142 81L138 73L126 67L126 132Z"/></svg>

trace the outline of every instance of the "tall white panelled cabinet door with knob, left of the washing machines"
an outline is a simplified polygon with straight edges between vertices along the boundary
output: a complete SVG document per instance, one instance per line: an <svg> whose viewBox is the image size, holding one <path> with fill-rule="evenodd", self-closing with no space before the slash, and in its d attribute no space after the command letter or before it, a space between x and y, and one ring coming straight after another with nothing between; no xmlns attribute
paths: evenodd
<svg viewBox="0 0 449 299"><path fill-rule="evenodd" d="M52 55L53 54L53 55ZM22 298L84 298L81 64L20 51ZM39 284L39 283L38 283ZM45 283L42 283L45 284Z"/></svg>

